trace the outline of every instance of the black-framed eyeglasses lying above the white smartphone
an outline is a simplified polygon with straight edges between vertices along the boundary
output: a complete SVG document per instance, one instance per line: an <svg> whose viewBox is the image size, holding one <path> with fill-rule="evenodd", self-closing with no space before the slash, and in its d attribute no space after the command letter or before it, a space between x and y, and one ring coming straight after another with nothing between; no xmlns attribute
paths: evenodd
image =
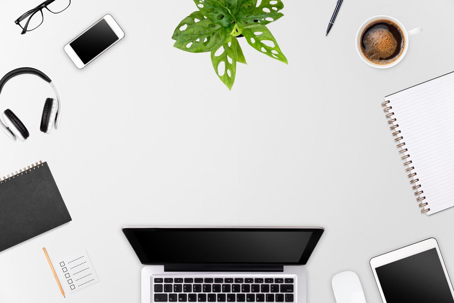
<svg viewBox="0 0 454 303"><path fill-rule="evenodd" d="M29 10L24 15L21 15L14 22L22 28L21 35L26 32L35 30L43 23L43 9L46 8L49 12L58 14L66 10L71 4L71 0L47 0Z"/></svg>

